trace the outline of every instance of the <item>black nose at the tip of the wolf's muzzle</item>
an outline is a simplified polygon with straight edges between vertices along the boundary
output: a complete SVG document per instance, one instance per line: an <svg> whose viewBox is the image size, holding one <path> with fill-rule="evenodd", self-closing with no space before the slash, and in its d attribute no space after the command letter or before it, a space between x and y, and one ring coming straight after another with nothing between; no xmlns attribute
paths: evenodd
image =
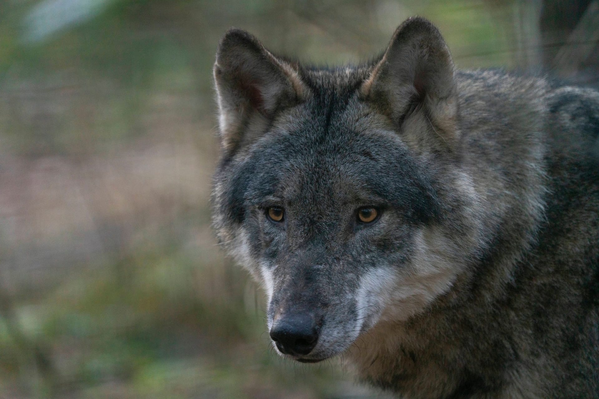
<svg viewBox="0 0 599 399"><path fill-rule="evenodd" d="M318 341L319 327L311 315L290 315L276 321L270 330L279 351L287 355L307 355Z"/></svg>

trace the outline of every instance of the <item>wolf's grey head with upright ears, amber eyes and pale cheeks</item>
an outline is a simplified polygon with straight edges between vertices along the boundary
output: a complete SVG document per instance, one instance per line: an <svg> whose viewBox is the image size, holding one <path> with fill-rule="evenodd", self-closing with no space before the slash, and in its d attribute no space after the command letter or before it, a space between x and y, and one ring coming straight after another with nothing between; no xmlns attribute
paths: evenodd
<svg viewBox="0 0 599 399"><path fill-rule="evenodd" d="M479 240L453 63L409 19L375 62L305 68L231 30L214 65L219 240L268 294L276 348L315 362L452 287Z"/></svg>

